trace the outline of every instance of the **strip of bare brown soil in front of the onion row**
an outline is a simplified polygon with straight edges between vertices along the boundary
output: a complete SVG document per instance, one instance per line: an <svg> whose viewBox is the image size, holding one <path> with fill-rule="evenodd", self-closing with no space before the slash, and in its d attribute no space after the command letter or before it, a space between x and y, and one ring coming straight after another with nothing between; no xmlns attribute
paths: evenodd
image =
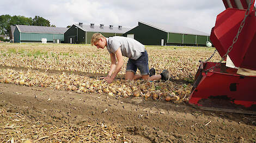
<svg viewBox="0 0 256 143"><path fill-rule="evenodd" d="M34 124L42 122L56 128L99 124L115 127L118 133L125 136L123 142L256 140L255 115L202 111L186 103L176 104L142 98L116 99L105 94L79 94L51 88L0 83L0 108L7 114L19 113L17 115L24 116ZM0 141L6 142L14 136L7 132L6 125L9 121L4 120L3 116L0 117ZM26 121L23 122L22 128L29 128L28 126ZM17 128L16 130L19 131ZM29 134L26 134L23 139L29 137ZM31 139L46 141L38 138L40 139Z"/></svg>

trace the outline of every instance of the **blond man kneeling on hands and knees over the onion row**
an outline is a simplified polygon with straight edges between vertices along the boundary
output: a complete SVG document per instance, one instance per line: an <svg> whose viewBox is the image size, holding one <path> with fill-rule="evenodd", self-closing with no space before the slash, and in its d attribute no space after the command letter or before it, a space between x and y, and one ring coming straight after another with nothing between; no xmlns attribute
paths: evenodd
<svg viewBox="0 0 256 143"><path fill-rule="evenodd" d="M168 80L169 72L164 69L161 74L155 75L155 69L149 70L148 53L145 50L145 46L133 38L127 38L122 36L114 36L106 38L100 33L95 33L92 36L92 46L96 46L98 49L104 49L107 47L108 53L111 57L111 66L107 76L102 77L106 79L108 83L113 82L115 76L119 73L121 67L123 67L123 56L129 57L126 64L125 80ZM117 57L117 60L115 59ZM118 61L118 62L117 62ZM137 68L141 74L136 74Z"/></svg>

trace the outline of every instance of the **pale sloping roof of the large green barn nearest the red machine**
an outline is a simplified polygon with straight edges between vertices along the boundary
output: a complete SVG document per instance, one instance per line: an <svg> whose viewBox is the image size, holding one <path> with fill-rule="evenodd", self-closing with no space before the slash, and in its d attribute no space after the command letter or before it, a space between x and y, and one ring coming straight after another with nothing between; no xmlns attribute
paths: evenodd
<svg viewBox="0 0 256 143"><path fill-rule="evenodd" d="M156 29L171 32L171 33L178 33L178 34L191 34L191 35L202 35L202 36L210 36L210 34L195 30L188 27L182 27L180 25L167 25L167 24L159 24L159 23L145 23L145 22L139 22L145 25L149 25L150 27L154 27Z"/></svg>

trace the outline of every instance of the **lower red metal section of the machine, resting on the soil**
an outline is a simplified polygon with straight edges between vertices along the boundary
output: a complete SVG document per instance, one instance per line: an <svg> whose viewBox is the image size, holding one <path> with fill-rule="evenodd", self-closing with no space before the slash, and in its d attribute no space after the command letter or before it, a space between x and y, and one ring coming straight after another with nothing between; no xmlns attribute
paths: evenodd
<svg viewBox="0 0 256 143"><path fill-rule="evenodd" d="M203 66L199 67L196 75L196 85L194 85L196 88L193 88L190 96L191 104L218 108L235 104L240 108L256 109L256 76L238 75L237 69L225 67L225 63L206 74L202 70L209 69L216 63L202 62L201 64ZM208 101L205 102L206 100Z"/></svg>

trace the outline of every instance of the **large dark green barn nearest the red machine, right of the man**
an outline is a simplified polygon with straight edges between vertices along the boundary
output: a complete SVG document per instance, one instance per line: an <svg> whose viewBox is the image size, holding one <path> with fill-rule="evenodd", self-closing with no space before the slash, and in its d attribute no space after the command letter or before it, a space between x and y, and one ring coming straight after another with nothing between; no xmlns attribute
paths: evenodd
<svg viewBox="0 0 256 143"><path fill-rule="evenodd" d="M125 32L145 45L205 46L210 34L187 27L138 22L138 26Z"/></svg>

